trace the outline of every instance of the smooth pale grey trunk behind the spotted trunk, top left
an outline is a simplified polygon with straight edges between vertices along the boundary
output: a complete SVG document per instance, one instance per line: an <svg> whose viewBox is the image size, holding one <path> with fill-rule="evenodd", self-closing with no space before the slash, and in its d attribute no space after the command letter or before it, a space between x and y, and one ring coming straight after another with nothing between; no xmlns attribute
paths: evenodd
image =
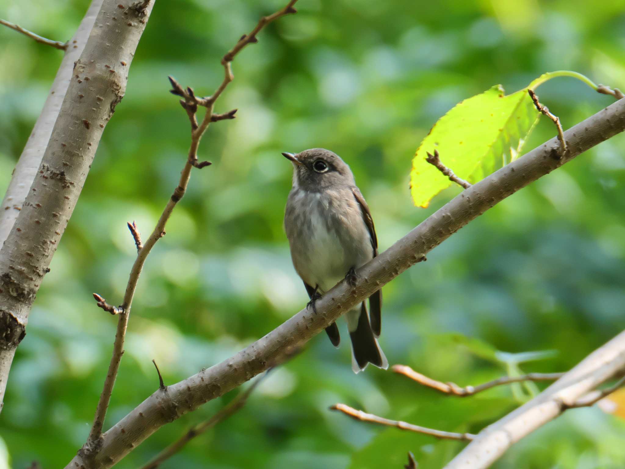
<svg viewBox="0 0 625 469"><path fill-rule="evenodd" d="M17 160L15 169L13 169L11 182L6 189L2 204L0 204L0 246L9 236L9 231L11 231L17 215L22 209L26 194L28 194L37 169L39 169L54 123L59 116L59 111L61 111L61 104L63 104L63 99L68 91L74 62L83 53L84 45L87 43L91 28L93 28L93 24L96 21L96 15L102 6L102 1L93 0L91 2L74 37L69 40L61 66L59 66L59 70L47 94L46 103L44 103L41 114L39 114L32 128L24 150L19 156L19 160ZM26 40L24 38L24 41Z"/></svg>

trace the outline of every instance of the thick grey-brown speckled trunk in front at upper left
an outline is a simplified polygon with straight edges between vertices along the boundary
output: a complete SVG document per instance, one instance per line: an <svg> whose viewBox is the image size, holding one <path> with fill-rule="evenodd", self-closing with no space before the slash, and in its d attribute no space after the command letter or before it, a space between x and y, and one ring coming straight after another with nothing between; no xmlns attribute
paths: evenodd
<svg viewBox="0 0 625 469"><path fill-rule="evenodd" d="M32 302L126 90L154 0L104 0L21 211L0 248L0 402Z"/></svg>

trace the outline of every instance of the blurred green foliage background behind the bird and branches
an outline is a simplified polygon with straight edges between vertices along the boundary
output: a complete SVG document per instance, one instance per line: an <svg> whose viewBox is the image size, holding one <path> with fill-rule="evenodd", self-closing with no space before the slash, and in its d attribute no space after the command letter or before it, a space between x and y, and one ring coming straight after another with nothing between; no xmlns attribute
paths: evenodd
<svg viewBox="0 0 625 469"><path fill-rule="evenodd" d="M0 417L0 467L64 466L88 435L119 303L134 260L126 221L149 233L178 181L189 129L167 76L210 94L221 55L279 0L156 3L126 96L54 256L19 347ZM87 0L0 0L0 17L43 36L72 36ZM411 158L437 118L501 83L512 92L572 69L625 87L623 1L437 2L301 0L234 62L200 158L148 259L106 427L158 385L236 353L296 313L306 291L291 266L282 215L291 165L282 151L321 146L350 165L381 250L455 196L412 206ZM61 51L0 29L0 190L39 114ZM570 78L538 90L567 128L612 98ZM537 126L526 149L554 134ZM625 325L625 136L522 189L384 288L381 345L442 381L477 384L514 371L506 353L544 351L522 371L564 371ZM344 325L342 331L345 335ZM503 361L502 361L503 360ZM507 365L504 363L507 360ZM540 385L539 388L544 387ZM514 391L514 392L513 392ZM121 461L136 468L238 391L167 425ZM527 398L502 387L473 398L437 395L389 371L354 375L349 347L324 334L274 371L247 406L199 436L164 468L439 468L463 446L349 420L344 402L441 430L477 432ZM598 408L567 412L521 441L497 468L622 467L625 421Z"/></svg>

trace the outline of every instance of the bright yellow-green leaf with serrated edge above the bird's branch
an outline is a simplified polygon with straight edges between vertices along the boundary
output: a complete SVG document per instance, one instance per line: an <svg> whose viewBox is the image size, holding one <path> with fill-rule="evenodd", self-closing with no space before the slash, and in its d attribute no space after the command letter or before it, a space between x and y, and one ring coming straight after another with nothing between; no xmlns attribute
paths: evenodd
<svg viewBox="0 0 625 469"><path fill-rule="evenodd" d="M519 155L540 115L527 88L505 96L497 85L456 104L434 124L412 159L414 204L427 207L451 184L426 162L427 152L437 150L447 168L476 183Z"/></svg>

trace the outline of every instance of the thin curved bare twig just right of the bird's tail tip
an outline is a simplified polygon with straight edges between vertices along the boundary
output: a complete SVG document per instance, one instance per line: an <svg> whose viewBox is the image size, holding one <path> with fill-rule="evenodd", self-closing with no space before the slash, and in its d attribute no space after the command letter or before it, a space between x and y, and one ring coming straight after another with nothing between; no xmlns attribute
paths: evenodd
<svg viewBox="0 0 625 469"><path fill-rule="evenodd" d="M464 388L461 388L456 383L443 383L442 381L432 380L432 378L429 378L426 375L422 375L421 373L412 370L410 366L393 365L391 369L395 373L407 376L408 378L416 381L420 385L435 389L443 394L458 397L472 396L481 391L494 388L495 386L507 385L510 383L519 383L521 381L555 381L564 375L564 373L529 373L522 376L502 376L501 378L488 381L487 383L483 383L478 386L464 386Z"/></svg>

